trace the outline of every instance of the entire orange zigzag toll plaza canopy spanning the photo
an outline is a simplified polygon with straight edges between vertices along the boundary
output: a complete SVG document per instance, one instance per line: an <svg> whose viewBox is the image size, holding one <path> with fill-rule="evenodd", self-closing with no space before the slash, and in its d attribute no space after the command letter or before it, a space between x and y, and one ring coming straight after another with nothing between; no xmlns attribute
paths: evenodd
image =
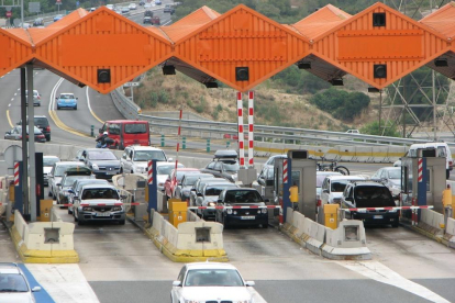
<svg viewBox="0 0 455 303"><path fill-rule="evenodd" d="M297 65L332 85L351 74L382 89L422 66L455 79L454 36L455 2L420 21L379 2L355 15L328 4L295 24L243 4L223 14L202 7L148 27L78 9L47 27L0 29L0 76L33 64L107 93L159 65L243 92Z"/></svg>

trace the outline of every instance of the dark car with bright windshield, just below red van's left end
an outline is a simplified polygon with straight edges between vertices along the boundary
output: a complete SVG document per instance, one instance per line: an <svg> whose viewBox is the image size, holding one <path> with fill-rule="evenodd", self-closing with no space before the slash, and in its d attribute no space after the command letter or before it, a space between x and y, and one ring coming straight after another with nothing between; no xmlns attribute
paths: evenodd
<svg viewBox="0 0 455 303"><path fill-rule="evenodd" d="M76 154L76 160L85 162L97 178L112 179L120 173L120 160L107 148L80 149Z"/></svg>

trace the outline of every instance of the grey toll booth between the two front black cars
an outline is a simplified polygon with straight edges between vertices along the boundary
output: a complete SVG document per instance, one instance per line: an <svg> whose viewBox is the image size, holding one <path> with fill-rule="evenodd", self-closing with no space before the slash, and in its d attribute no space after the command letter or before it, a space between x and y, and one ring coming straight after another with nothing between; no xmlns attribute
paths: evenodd
<svg viewBox="0 0 455 303"><path fill-rule="evenodd" d="M317 161L309 158L308 150L289 150L287 159L275 160L274 201L281 205L284 221L290 202L290 187L296 184L298 191L298 211L315 220L317 210Z"/></svg>

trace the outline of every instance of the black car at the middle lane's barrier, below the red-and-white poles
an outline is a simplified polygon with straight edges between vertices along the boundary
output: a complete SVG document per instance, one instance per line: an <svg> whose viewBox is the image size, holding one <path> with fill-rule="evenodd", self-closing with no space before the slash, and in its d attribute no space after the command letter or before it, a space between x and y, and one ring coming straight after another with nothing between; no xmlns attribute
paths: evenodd
<svg viewBox="0 0 455 303"><path fill-rule="evenodd" d="M268 200L263 200L256 189L237 188L225 189L220 193L217 206L228 206L217 209L215 221L223 224L224 227L240 225L260 225L263 228L268 227L268 212L266 206ZM233 207L231 207L233 206ZM235 209L235 206L253 206L252 209Z"/></svg>

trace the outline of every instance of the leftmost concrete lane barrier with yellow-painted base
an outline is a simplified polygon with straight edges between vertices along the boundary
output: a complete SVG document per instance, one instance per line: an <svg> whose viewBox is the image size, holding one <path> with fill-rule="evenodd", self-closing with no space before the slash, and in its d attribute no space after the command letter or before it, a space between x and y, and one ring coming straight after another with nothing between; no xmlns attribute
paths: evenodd
<svg viewBox="0 0 455 303"><path fill-rule="evenodd" d="M76 263L79 255L74 249L73 223L63 222L55 209L52 222L27 224L19 211L14 212L14 225L9 228L15 249L23 262Z"/></svg>

